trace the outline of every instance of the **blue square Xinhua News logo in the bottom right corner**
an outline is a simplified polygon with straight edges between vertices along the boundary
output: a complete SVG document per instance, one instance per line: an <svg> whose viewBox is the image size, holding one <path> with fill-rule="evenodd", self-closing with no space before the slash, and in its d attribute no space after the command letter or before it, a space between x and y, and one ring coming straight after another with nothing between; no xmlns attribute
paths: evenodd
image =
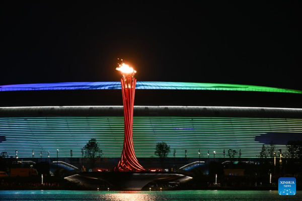
<svg viewBox="0 0 302 201"><path fill-rule="evenodd" d="M294 177L280 177L278 179L279 195L295 195L296 179Z"/></svg>

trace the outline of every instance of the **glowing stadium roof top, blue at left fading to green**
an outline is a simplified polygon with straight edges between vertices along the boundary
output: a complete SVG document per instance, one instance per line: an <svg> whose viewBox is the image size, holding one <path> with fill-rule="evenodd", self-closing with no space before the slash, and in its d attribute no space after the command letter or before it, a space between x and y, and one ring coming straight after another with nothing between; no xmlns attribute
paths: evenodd
<svg viewBox="0 0 302 201"><path fill-rule="evenodd" d="M0 91L23 90L73 90L73 89L121 89L120 82L58 82L40 84L13 84L0 86ZM232 90L232 91L264 91L302 93L299 90L274 88L265 86L220 84L220 83L193 83L193 82L153 82L138 81L136 89L178 89L178 90Z"/></svg>

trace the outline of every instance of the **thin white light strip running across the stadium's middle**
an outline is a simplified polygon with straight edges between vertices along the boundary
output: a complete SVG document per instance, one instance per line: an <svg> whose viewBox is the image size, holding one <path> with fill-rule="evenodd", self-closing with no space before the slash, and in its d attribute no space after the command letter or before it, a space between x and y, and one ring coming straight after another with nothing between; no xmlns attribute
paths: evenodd
<svg viewBox="0 0 302 201"><path fill-rule="evenodd" d="M30 107L0 107L0 109L21 108L123 108L123 106L30 106ZM301 110L300 108L259 108L259 107L226 107L226 106L134 106L134 108L229 108L229 109L272 109L272 110Z"/></svg>

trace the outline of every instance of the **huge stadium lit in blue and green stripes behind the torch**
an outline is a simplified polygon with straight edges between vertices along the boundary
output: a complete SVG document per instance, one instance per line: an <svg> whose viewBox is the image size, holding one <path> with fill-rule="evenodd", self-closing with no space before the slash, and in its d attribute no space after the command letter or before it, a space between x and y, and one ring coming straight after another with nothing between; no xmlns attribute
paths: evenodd
<svg viewBox="0 0 302 201"><path fill-rule="evenodd" d="M61 82L0 86L0 153L19 158L81 158L96 138L102 157L123 149L120 82ZM138 81L133 141L139 160L166 142L168 157L253 160L263 145L286 153L302 140L302 91L239 84ZM59 151L57 151L59 150ZM17 152L16 152L17 151ZM215 155L214 155L215 151ZM199 155L200 153L200 155Z"/></svg>

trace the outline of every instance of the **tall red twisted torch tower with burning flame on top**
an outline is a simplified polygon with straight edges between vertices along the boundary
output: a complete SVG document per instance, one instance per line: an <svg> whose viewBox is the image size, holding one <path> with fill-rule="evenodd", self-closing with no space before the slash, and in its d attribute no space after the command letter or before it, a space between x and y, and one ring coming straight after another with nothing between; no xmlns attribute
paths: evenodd
<svg viewBox="0 0 302 201"><path fill-rule="evenodd" d="M123 106L124 106L124 145L123 152L114 171L144 171L145 169L138 163L133 146L133 106L136 73L132 67L122 63L116 70L121 71L123 77L121 78Z"/></svg>

